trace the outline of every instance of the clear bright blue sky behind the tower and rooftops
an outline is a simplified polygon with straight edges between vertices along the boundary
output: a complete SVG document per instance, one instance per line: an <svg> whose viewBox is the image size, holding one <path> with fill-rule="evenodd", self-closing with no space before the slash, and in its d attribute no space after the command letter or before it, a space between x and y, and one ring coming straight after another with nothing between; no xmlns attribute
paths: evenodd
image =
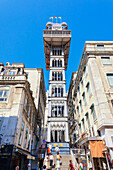
<svg viewBox="0 0 113 170"><path fill-rule="evenodd" d="M113 0L0 0L0 62L21 62L46 71L43 29L51 16L61 16L72 31L66 71L67 90L78 69L85 41L113 40Z"/></svg>

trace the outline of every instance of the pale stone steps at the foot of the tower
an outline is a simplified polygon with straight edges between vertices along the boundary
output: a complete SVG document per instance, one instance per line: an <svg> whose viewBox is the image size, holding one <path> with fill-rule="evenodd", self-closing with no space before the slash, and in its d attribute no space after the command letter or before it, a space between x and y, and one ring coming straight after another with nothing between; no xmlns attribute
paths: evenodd
<svg viewBox="0 0 113 170"><path fill-rule="evenodd" d="M72 156L71 155L61 155L61 162L62 165L60 167L61 170L69 170L69 164L70 164L70 160L72 160ZM56 165L56 156L54 155L54 163ZM54 168L55 170L55 168Z"/></svg>

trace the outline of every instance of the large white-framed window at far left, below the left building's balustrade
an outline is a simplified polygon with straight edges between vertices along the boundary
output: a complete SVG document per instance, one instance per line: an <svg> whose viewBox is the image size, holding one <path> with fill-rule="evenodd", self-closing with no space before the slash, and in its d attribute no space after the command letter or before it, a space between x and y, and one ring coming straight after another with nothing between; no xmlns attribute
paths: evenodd
<svg viewBox="0 0 113 170"><path fill-rule="evenodd" d="M7 101L9 86L0 86L0 101Z"/></svg>

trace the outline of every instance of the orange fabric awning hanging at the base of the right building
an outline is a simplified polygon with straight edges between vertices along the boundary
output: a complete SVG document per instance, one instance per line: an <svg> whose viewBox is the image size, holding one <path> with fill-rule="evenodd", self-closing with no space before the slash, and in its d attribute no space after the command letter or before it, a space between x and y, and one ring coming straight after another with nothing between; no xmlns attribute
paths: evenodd
<svg viewBox="0 0 113 170"><path fill-rule="evenodd" d="M90 149L91 149L91 156L94 158L105 157L103 154L103 141L89 141Z"/></svg>

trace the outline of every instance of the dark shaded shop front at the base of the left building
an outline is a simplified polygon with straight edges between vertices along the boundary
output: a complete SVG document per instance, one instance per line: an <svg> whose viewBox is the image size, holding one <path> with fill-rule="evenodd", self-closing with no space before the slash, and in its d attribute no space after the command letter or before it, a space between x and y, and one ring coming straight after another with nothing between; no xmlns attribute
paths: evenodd
<svg viewBox="0 0 113 170"><path fill-rule="evenodd" d="M14 145L2 145L0 149L0 170L27 170L30 160L35 160L29 152L17 148Z"/></svg>

